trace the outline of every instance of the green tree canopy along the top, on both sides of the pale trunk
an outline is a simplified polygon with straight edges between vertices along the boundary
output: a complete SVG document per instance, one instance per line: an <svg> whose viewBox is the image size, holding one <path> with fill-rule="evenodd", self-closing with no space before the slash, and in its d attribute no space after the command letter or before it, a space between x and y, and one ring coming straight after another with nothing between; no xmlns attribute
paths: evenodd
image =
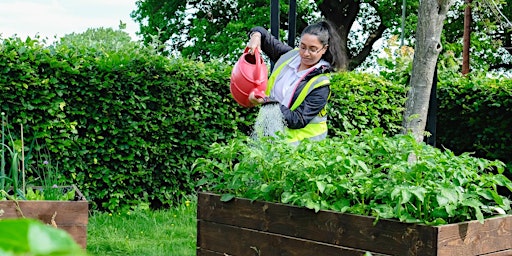
<svg viewBox="0 0 512 256"><path fill-rule="evenodd" d="M510 29L498 22L503 18L499 20L497 12L491 8L512 16L512 0L473 2L474 68L486 70L512 62L510 54L502 54L503 46L511 45ZM144 43L160 45L164 53L234 63L247 43L247 31L251 27L270 28L269 3L269 0L138 0L131 17L140 24ZM399 0L297 0L296 31L300 33L319 18L334 22L349 60L348 69L352 70L376 53L374 49L380 45L380 39L402 33L402 3ZM448 13L443 41L445 52L449 54L444 57L458 58L462 52L464 4L464 0L456 0ZM414 44L418 5L418 1L406 4L403 36L410 46ZM288 1L280 0L279 35L282 38L287 36L288 11Z"/></svg>

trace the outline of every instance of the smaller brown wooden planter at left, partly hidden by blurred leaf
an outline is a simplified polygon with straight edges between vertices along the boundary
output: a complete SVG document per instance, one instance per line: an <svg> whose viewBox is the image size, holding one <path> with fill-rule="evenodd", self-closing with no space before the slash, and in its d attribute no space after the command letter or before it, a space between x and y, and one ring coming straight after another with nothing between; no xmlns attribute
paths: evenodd
<svg viewBox="0 0 512 256"><path fill-rule="evenodd" d="M89 221L89 203L75 189L75 201L38 201L6 200L0 201L0 219L32 218L52 224L54 218L58 228L67 231L82 248L87 246L87 223ZM55 217L53 217L55 215Z"/></svg>

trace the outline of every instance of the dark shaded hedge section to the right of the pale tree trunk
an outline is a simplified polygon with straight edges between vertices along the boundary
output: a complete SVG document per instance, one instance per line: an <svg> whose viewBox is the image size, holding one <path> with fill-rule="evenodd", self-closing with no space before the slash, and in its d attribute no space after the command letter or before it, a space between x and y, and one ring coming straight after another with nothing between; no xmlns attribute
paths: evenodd
<svg viewBox="0 0 512 256"><path fill-rule="evenodd" d="M438 102L438 146L499 159L512 169L512 79L471 75L444 80Z"/></svg>

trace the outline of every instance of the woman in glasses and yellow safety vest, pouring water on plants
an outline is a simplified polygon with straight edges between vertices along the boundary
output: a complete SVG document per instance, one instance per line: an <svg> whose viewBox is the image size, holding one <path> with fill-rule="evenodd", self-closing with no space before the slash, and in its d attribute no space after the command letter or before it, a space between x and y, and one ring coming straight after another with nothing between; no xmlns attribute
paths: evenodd
<svg viewBox="0 0 512 256"><path fill-rule="evenodd" d="M328 21L307 26L295 49L262 27L251 29L249 37L249 53L261 49L275 63L265 92L269 98L256 98L251 93L251 103L264 104L269 99L280 103L290 143L324 139L330 96L328 74L345 69L347 64L335 27Z"/></svg>

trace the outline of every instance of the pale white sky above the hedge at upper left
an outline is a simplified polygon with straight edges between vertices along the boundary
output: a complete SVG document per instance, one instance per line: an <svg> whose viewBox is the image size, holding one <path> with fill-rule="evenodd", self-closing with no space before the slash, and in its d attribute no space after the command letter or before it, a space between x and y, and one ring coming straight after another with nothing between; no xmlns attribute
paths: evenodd
<svg viewBox="0 0 512 256"><path fill-rule="evenodd" d="M137 39L138 31L130 13L136 0L0 0L0 37L16 34L25 39L35 35L55 41L70 33L82 33L88 28L119 28Z"/></svg>

